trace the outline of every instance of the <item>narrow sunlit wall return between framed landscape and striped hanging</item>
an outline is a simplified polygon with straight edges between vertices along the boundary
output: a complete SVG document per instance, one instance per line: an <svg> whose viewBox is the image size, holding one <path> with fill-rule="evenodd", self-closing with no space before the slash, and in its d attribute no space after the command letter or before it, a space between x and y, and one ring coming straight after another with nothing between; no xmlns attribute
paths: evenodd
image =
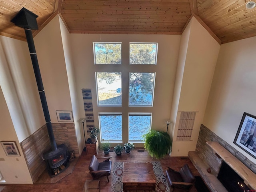
<svg viewBox="0 0 256 192"><path fill-rule="evenodd" d="M59 17L59 16L58 16ZM78 151L79 154L82 153L83 148L85 147L85 141L83 140L83 130L80 127L78 120L80 119L79 115L79 106L78 106L78 92L76 91L76 79L72 61L72 52L71 52L71 43L70 43L70 34L66 29L66 26L62 22L59 17L60 21L60 30L61 30L61 37L62 37L62 44L65 56L65 63L66 63L66 71L68 76L68 86L70 89L70 98L72 103L72 111L73 111L73 119L76 129L76 139L78 143Z"/></svg>

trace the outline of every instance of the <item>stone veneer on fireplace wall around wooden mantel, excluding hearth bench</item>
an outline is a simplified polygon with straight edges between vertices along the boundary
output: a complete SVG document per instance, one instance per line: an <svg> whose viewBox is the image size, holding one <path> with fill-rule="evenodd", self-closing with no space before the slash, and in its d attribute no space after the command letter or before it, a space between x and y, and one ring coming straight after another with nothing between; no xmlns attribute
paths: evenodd
<svg viewBox="0 0 256 192"><path fill-rule="evenodd" d="M241 154L238 150L230 146L222 138L214 134L210 129L201 124L198 141L196 144L196 153L200 156L206 165L209 165L212 174L218 176L218 172L222 163L222 159L218 158L215 152L206 144L206 141L216 141L220 143L224 148L226 148L230 153L232 153L236 158L243 162L252 172L256 174L256 164L248 160L246 156Z"/></svg>

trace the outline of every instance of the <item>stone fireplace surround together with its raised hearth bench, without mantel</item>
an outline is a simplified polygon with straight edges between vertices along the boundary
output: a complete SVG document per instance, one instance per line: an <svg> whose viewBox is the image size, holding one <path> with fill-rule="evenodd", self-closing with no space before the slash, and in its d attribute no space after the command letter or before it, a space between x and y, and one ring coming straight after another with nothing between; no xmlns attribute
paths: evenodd
<svg viewBox="0 0 256 192"><path fill-rule="evenodd" d="M222 164L222 159L219 158L215 152L206 144L206 141L216 141L232 153L236 158L243 162L252 172L256 174L256 165L248 160L246 156L241 154L238 150L230 146L222 138L214 134L206 126L201 124L198 136L198 142L195 152L189 152L188 157L193 162L194 166L198 169L204 181L208 184L211 191L224 192L226 189L222 186L216 178ZM211 169L211 173L206 171L207 168Z"/></svg>

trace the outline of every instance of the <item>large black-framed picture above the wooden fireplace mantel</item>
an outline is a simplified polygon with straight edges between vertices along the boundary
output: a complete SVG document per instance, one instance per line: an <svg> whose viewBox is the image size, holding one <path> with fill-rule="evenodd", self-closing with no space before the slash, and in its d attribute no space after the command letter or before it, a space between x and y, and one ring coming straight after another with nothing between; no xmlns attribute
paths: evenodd
<svg viewBox="0 0 256 192"><path fill-rule="evenodd" d="M244 112L234 144L256 158L256 116Z"/></svg>

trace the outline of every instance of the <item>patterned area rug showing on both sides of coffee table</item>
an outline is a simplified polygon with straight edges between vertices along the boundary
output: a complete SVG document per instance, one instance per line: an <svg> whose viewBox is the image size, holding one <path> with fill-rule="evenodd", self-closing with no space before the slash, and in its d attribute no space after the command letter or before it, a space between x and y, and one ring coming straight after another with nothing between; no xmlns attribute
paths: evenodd
<svg viewBox="0 0 256 192"><path fill-rule="evenodd" d="M170 188L168 183L166 182L166 178L164 176L164 172L162 170L160 162L150 162L153 165L154 174L156 176L156 190L154 192L170 192ZM115 162L114 170L112 175L112 184L111 184L111 192L123 192L123 162ZM137 191L139 192L139 191ZM141 191L141 192L151 192L151 191Z"/></svg>

